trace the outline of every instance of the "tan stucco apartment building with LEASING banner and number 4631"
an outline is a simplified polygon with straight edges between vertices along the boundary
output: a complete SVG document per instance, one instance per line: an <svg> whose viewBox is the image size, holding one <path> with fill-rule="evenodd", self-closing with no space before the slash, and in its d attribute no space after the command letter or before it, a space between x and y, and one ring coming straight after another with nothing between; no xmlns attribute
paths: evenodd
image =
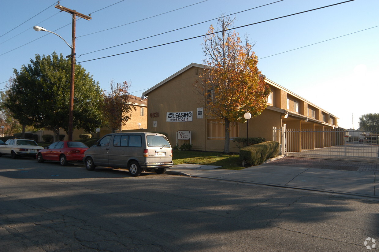
<svg viewBox="0 0 379 252"><path fill-rule="evenodd" d="M147 128L168 134L171 144L178 142L179 146L189 142L185 136L190 131L192 149L222 152L224 126L205 116L204 108L198 103L201 95L194 88L203 69L204 65L189 64L143 93L149 100ZM273 127L310 130L338 128L338 118L334 115L267 78L265 81L272 93L262 114L249 120L249 137L263 137L271 141ZM230 138L246 137L246 125L231 123ZM230 152L238 151L238 147L230 141Z"/></svg>

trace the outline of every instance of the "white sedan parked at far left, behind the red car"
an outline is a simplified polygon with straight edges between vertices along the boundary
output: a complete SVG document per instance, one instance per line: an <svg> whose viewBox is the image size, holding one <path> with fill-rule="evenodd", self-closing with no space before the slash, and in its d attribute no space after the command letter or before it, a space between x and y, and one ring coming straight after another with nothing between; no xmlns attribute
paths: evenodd
<svg viewBox="0 0 379 252"><path fill-rule="evenodd" d="M43 149L42 146L30 139L8 139L5 144L0 145L0 157L2 155L11 155L11 158L18 156L36 157L38 150Z"/></svg>

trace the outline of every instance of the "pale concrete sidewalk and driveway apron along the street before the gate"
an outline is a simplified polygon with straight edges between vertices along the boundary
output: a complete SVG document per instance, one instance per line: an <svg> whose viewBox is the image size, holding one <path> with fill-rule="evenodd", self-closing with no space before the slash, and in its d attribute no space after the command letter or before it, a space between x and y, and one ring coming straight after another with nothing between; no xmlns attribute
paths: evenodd
<svg viewBox="0 0 379 252"><path fill-rule="evenodd" d="M167 169L166 173L360 196L379 200L378 172L280 166L270 163L248 167L239 171L217 169L218 167L179 164Z"/></svg>

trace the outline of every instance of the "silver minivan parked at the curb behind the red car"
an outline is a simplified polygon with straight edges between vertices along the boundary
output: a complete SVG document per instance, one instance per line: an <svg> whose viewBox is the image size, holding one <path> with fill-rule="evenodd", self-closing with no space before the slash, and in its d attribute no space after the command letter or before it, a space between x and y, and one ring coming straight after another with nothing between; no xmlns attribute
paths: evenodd
<svg viewBox="0 0 379 252"><path fill-rule="evenodd" d="M143 171L166 172L172 166L172 148L166 136L149 132L112 133L103 136L84 153L86 169L96 166L128 169L130 175Z"/></svg>

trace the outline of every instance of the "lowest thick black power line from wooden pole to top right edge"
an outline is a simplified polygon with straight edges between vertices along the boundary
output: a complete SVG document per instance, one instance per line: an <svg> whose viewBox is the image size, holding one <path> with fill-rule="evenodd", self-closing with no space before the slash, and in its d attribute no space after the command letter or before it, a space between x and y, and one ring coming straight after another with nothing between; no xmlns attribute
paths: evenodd
<svg viewBox="0 0 379 252"><path fill-rule="evenodd" d="M248 24L248 25L241 25L241 26L235 27L233 29L243 28L243 27L247 27L247 26L250 26L250 25L256 25L258 23L264 23L264 22L268 22L268 21L272 21L272 20L281 19L281 18L284 18L284 17L290 17L290 16L294 16L294 15L298 15L298 14L302 14L302 13L307 13L307 12L310 12L310 11L315 11L315 10L318 10L318 9L323 9L323 8L327 8L327 7L331 7L331 6L335 6L335 5L340 5L342 3L348 3L348 2L352 2L352 1L355 1L355 0L348 0L348 1L345 1L345 2L334 3L332 5L327 5L327 6L323 6L323 7L319 7L319 8L315 8L315 9L310 9L310 10L307 10L307 11L301 11L301 12L298 12L298 13L293 13L293 14L282 16L282 17L276 17L276 18L273 18L273 19L267 19L267 20L264 20L264 21L260 21L260 22L256 22L256 23L251 23L251 24ZM164 44L160 44L160 45L153 45L153 46L150 46L150 47L145 47L145 48L142 48L142 49L132 50L132 51L129 51L129 52L117 53L117 54L114 54L114 55L104 56L104 57L100 57L100 58L96 58L96 59L88 59L88 60L80 61L80 62L77 62L77 63L83 63L83 62L93 61L93 60L97 60L97 59L109 58L109 57L118 56L118 55L122 55L122 54L126 54L126 53L138 52L138 51L142 51L142 50L146 50L146 49L160 47L160 46L163 46L163 45L169 45L169 44L174 44L174 43L177 43L177 42L187 41L187 40L190 40L190 39L201 38L201 37L204 37L204 36L208 36L208 35L212 35L212 34L216 34L216 33L221 33L223 31L225 31L225 30L216 31L216 32L213 32L213 33L208 33L208 34L203 34L203 35L195 36L195 37L192 37L192 38L180 39L180 40L177 40L177 41L172 41L172 42L168 42L168 43L164 43Z"/></svg>

